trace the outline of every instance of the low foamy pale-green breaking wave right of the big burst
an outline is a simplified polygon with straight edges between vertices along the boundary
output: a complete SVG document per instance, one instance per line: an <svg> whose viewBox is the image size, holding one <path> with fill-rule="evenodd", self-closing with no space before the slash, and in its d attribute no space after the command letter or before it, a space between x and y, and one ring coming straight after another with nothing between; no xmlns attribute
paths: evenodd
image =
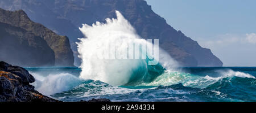
<svg viewBox="0 0 256 113"><path fill-rule="evenodd" d="M162 75L156 77L151 82L142 82L139 85L145 86L167 86L167 85L174 85L174 84L183 84L184 86L190 86L192 88L207 88L207 86L214 84L217 81L220 81L225 78L232 78L232 77L242 77L242 78L251 78L255 79L253 75L249 73L233 71L232 69L225 69L225 70L216 70L217 76L211 77L205 73L205 76L193 75L191 73L184 73L184 72L168 72L165 71Z"/></svg>

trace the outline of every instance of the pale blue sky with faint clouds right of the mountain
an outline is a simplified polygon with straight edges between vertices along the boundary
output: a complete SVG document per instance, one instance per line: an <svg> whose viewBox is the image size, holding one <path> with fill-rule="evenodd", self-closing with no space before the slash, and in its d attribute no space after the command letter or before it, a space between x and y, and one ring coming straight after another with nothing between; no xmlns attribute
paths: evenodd
<svg viewBox="0 0 256 113"><path fill-rule="evenodd" d="M224 66L256 67L255 0L146 0L186 36L209 48Z"/></svg>

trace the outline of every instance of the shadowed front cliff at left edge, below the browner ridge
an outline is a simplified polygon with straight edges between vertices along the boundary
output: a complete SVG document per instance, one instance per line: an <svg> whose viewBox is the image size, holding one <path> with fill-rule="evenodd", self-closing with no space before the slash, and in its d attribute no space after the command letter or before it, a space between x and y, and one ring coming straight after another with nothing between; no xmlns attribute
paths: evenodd
<svg viewBox="0 0 256 113"><path fill-rule="evenodd" d="M0 22L0 60L19 66L54 66L53 50L41 37Z"/></svg>

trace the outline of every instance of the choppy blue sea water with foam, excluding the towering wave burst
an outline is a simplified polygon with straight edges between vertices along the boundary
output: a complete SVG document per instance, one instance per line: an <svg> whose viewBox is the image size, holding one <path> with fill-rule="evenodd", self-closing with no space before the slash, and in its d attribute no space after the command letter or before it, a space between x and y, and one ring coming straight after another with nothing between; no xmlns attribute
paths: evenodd
<svg viewBox="0 0 256 113"><path fill-rule="evenodd" d="M159 68L157 76L133 77L121 86L82 80L77 67L26 69L36 79L36 90L60 101L256 101L256 67L180 67L175 72Z"/></svg>

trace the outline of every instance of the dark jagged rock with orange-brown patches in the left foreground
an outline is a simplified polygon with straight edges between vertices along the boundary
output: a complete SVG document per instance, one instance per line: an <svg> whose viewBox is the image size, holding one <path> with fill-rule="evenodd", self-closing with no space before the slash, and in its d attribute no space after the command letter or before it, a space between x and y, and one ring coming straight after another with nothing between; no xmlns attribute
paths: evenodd
<svg viewBox="0 0 256 113"><path fill-rule="evenodd" d="M0 62L0 102L58 102L36 91L34 81L26 69Z"/></svg>

